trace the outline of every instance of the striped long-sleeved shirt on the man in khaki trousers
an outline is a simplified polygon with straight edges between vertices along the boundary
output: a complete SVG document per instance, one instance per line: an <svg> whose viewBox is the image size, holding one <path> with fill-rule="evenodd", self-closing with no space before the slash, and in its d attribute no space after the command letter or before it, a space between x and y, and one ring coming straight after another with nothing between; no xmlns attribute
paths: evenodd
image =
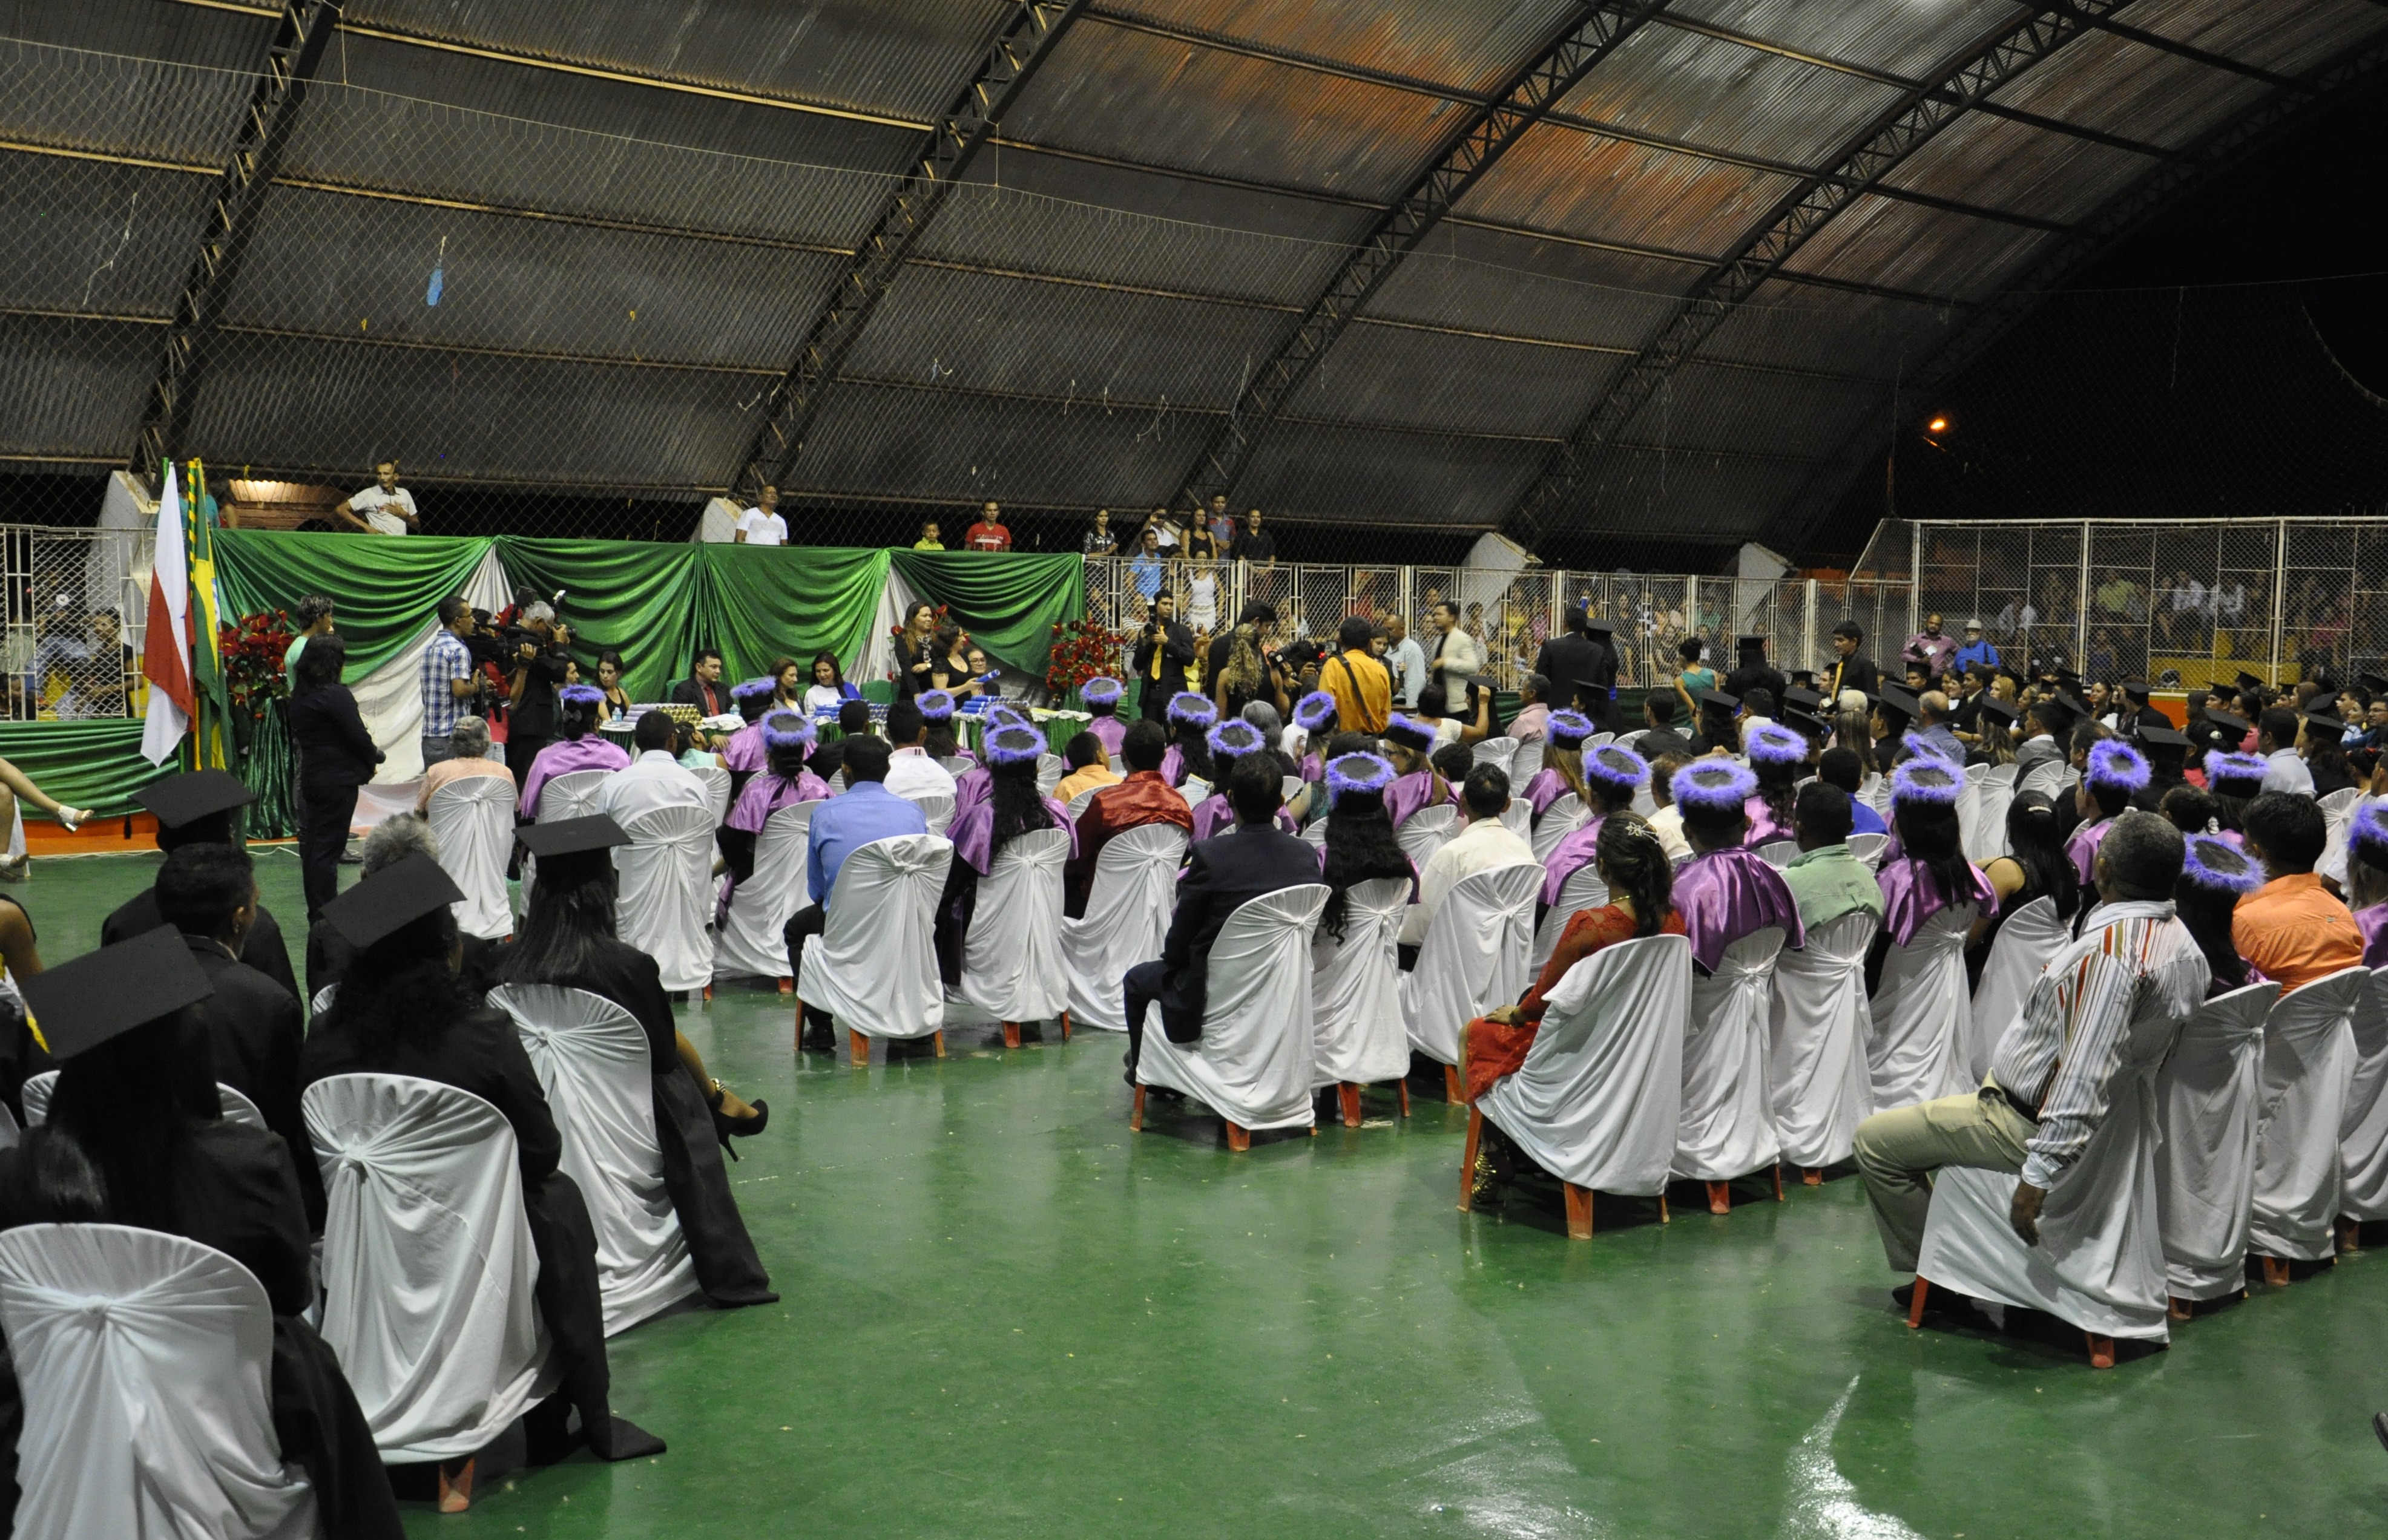
<svg viewBox="0 0 2388 1540"><path fill-rule="evenodd" d="M1999 1089L2039 1105L2025 1182L2054 1187L2097 1134L2132 1022L2185 1022L2207 979L2207 957L2171 900L2101 905L2082 938L2049 960L1989 1065Z"/></svg>

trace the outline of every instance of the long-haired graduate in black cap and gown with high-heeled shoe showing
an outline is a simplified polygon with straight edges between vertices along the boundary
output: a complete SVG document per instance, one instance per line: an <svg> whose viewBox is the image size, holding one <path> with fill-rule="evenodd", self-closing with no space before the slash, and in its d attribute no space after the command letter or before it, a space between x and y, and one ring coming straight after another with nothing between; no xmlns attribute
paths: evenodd
<svg viewBox="0 0 2388 1540"><path fill-rule="evenodd" d="M523 831L540 857L523 934L497 960L506 984L585 988L628 1010L647 1034L654 1144L664 1156L664 1191L681 1215L697 1287L716 1308L774 1304L771 1277L755 1256L724 1151L731 1136L759 1134L769 1103L747 1105L704 1070L695 1043L671 1017L671 996L654 957L614 931L614 848L630 836L607 817L561 819Z"/></svg>

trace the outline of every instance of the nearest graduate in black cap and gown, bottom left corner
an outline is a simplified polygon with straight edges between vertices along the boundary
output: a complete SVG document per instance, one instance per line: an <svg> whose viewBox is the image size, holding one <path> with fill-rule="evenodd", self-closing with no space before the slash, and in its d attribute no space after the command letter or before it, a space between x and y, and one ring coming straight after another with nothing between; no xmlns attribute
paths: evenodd
<svg viewBox="0 0 2388 1540"><path fill-rule="evenodd" d="M279 1454L313 1487L320 1533L399 1540L399 1504L373 1428L332 1349L303 1320L315 1273L291 1148L217 1115L208 1029L196 1020L208 977L184 938L155 929L21 986L60 1070L50 1120L0 1148L0 1230L131 1225L248 1268L275 1313L267 1394ZM313 1151L306 1163L315 1163ZM119 1351L136 1344L139 1335ZM7 1354L0 1409L14 1413L10 1421L21 1416ZM10 1428L0 1478L14 1473ZM7 1499L17 1499L14 1480Z"/></svg>

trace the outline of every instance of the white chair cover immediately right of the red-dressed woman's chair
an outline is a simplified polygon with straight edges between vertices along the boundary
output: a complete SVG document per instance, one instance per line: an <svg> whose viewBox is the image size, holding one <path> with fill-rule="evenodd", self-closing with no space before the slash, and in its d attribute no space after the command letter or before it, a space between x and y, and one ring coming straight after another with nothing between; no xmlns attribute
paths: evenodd
<svg viewBox="0 0 2388 1540"><path fill-rule="evenodd" d="M1724 948L1717 972L1691 981L1684 1029L1684 1105L1674 1175L1729 1182L1781 1158L1767 1108L1767 1008L1781 926L1762 926Z"/></svg>

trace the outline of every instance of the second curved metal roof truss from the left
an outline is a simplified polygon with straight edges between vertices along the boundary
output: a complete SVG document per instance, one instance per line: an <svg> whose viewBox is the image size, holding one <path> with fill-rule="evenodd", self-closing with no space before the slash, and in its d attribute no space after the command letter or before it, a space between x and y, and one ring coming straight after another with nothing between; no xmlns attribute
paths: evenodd
<svg viewBox="0 0 2388 1540"><path fill-rule="evenodd" d="M903 270L905 253L919 241L936 210L946 205L970 162L993 138L996 124L1020 100L1020 91L1036 74L1036 67L1053 57L1053 45L1070 31L1084 5L1087 0L1015 0L1010 17L979 53L970 84L929 127L912 170L879 205L879 217L872 220L853 263L805 329L795 363L764 399L755 439L731 475L733 492L757 492L767 482L786 480L788 468L805 451L805 435L821 413L824 396L838 380L838 365L845 363L862 327L886 298L896 272Z"/></svg>

